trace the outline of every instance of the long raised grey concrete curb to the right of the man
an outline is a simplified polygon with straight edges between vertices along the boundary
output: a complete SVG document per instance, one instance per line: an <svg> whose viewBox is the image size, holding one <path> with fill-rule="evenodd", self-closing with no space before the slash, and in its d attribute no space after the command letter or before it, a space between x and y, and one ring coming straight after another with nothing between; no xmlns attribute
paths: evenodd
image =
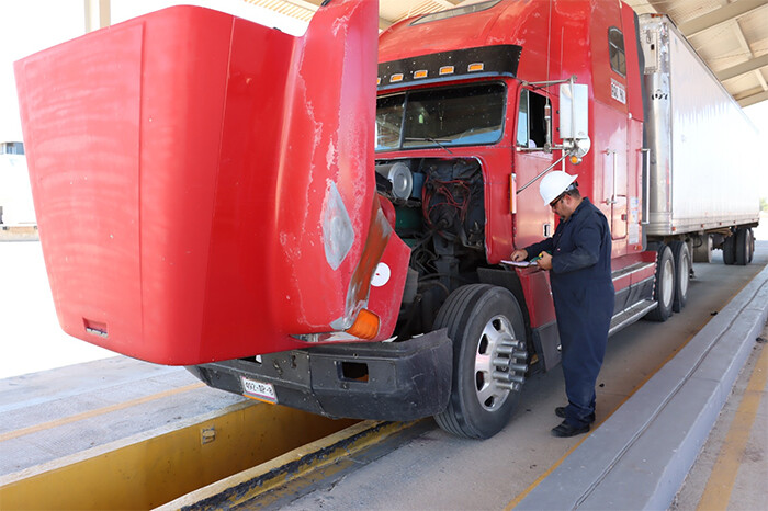
<svg viewBox="0 0 768 511"><path fill-rule="evenodd" d="M666 509L768 318L763 270L516 509Z"/></svg>

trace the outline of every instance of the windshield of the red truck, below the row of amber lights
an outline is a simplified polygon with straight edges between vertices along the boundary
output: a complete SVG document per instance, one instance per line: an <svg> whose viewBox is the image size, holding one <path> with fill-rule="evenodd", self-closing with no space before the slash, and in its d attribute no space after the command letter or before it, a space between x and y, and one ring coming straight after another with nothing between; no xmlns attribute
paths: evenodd
<svg viewBox="0 0 768 511"><path fill-rule="evenodd" d="M385 95L376 101L376 151L495 144L506 88L474 84Z"/></svg>

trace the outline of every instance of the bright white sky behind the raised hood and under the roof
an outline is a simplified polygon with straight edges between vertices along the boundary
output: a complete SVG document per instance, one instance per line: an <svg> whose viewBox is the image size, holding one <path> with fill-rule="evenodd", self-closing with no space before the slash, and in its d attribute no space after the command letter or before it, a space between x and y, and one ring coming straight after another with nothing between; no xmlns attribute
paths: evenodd
<svg viewBox="0 0 768 511"><path fill-rule="evenodd" d="M0 143L22 139L13 61L82 35L86 25L83 3L83 0L3 2L0 16ZM225 11L263 25L279 27L293 35L301 35L306 29L304 22L248 4L242 0L112 0L112 23L179 3ZM768 101L747 106L744 112L760 130L758 147L768 146ZM759 170L760 196L768 198L768 163Z"/></svg>

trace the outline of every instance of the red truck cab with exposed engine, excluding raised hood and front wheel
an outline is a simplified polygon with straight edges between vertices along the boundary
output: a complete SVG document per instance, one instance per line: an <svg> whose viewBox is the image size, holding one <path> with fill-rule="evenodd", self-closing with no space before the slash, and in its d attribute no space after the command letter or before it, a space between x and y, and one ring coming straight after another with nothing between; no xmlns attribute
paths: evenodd
<svg viewBox="0 0 768 511"><path fill-rule="evenodd" d="M406 20L381 35L376 169L393 186L380 192L411 247L409 277L418 272L441 284L421 286L421 310L411 316L422 330L447 293L506 282L521 305L531 363L557 364L546 272L504 263L554 231L557 218L537 193L538 179L554 168L578 174L583 195L611 226L617 326L654 307L654 258L641 236L636 33L633 11L615 2L490 0ZM560 86L572 77L587 86L591 146L573 160L560 133ZM408 183L399 196L397 180Z"/></svg>

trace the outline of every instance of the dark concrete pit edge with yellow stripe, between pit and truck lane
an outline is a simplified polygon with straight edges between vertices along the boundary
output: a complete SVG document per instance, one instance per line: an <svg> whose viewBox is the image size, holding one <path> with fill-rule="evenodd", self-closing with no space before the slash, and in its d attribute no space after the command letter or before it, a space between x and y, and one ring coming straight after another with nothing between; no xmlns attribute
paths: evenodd
<svg viewBox="0 0 768 511"><path fill-rule="evenodd" d="M158 508L216 510L230 509L256 498L274 502L297 487L330 477L354 462L352 456L381 441L414 427L413 422L363 421L316 442L301 446L259 466L201 488ZM292 488L285 485L292 482ZM282 491L281 491L282 490ZM260 506L269 502L260 502Z"/></svg>

